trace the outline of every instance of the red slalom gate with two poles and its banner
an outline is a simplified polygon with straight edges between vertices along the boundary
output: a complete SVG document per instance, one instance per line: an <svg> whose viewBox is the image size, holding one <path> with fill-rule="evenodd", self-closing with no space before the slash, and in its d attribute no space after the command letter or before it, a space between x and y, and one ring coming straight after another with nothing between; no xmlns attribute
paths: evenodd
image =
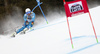
<svg viewBox="0 0 100 54"><path fill-rule="evenodd" d="M70 2L66 2L65 0L63 0L63 3L64 3L64 7L65 7L65 13L66 13L66 16L67 16L67 24L68 24L72 48L74 48L74 46L73 46L73 41L72 41L72 37L71 37L71 31L70 31L68 17L73 17L75 15L79 15L79 14L83 14L83 13L89 13L89 17L90 17L91 24L92 24L92 27L93 27L93 31L94 31L94 34L95 34L95 37L96 37L96 41L98 43L96 31L95 31L95 28L94 28L94 25L93 25L93 21L92 21L86 0L75 0L75 1L70 1Z"/></svg>

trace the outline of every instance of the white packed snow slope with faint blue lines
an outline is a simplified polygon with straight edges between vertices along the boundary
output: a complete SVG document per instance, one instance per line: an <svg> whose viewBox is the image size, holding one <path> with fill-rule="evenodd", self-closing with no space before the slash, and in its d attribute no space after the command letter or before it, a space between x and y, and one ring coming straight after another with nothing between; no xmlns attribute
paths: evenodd
<svg viewBox="0 0 100 54"><path fill-rule="evenodd" d="M0 36L0 54L100 54L99 10L100 6L90 9L99 43L86 13L69 18L74 49L65 16L15 38Z"/></svg>

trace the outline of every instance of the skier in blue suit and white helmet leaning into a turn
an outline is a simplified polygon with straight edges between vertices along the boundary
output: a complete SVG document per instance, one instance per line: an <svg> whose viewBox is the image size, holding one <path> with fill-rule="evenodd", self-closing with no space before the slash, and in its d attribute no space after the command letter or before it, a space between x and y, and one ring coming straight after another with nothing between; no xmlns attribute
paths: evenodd
<svg viewBox="0 0 100 54"><path fill-rule="evenodd" d="M30 10L30 8L26 8L25 12L26 13L24 14L24 17L23 17L24 18L24 25L22 26L22 28L20 28L16 32L14 32L11 37L15 37L16 34L22 32L22 31L25 33L25 31L32 29L33 24L34 24L34 20L35 20L35 13L32 12Z"/></svg>

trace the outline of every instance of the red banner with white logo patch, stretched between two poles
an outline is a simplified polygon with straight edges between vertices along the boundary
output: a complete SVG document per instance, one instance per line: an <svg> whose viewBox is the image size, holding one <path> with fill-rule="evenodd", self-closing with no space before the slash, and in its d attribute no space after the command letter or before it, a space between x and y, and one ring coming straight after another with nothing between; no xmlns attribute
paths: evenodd
<svg viewBox="0 0 100 54"><path fill-rule="evenodd" d="M65 0L63 0L63 2L67 17L89 12L86 0L75 0L70 2L65 2Z"/></svg>

